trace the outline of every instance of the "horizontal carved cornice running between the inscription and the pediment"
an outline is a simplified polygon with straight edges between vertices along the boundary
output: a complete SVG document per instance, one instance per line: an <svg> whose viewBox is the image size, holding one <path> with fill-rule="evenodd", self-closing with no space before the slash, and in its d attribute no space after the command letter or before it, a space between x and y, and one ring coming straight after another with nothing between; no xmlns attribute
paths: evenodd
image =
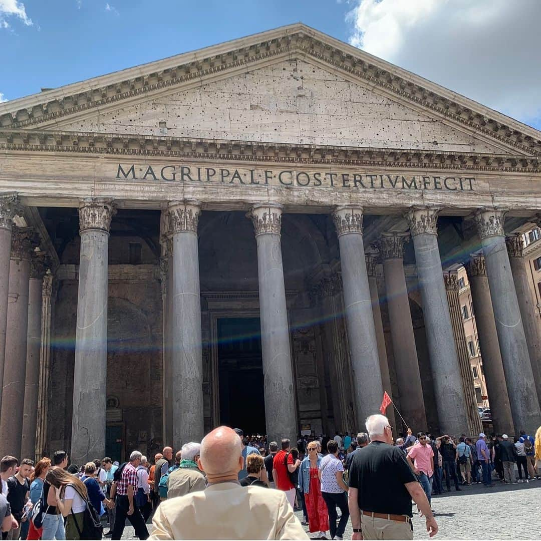
<svg viewBox="0 0 541 541"><path fill-rule="evenodd" d="M377 166L500 173L541 173L538 156L439 150L338 147L316 144L83 131L0 129L0 150L201 160Z"/></svg>

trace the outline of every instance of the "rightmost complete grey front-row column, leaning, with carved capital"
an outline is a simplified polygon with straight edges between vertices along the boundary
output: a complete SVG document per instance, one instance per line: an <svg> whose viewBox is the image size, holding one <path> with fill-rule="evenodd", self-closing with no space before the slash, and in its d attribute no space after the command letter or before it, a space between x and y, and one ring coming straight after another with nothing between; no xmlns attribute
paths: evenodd
<svg viewBox="0 0 541 541"><path fill-rule="evenodd" d="M505 214L502 209L481 209L476 213L475 221L485 254L513 424L518 430L524 428L534 432L541 425L541 411L505 245Z"/></svg>

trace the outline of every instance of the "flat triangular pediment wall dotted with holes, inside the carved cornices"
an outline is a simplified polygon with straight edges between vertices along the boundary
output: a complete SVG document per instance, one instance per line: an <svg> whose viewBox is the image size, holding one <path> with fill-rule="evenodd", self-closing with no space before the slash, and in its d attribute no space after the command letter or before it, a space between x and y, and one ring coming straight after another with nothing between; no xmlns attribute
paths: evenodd
<svg viewBox="0 0 541 541"><path fill-rule="evenodd" d="M56 129L316 146L503 154L507 146L302 58L171 91Z"/></svg>

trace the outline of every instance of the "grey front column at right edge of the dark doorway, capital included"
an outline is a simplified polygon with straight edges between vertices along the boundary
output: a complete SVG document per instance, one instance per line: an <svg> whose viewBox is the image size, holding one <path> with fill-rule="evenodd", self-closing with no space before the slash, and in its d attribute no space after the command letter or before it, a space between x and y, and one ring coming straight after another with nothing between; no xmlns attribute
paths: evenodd
<svg viewBox="0 0 541 541"><path fill-rule="evenodd" d="M269 441L296 441L299 423L287 320L286 287L283 281L280 230L282 207L256 204L249 212L258 245L259 311L263 385Z"/></svg>

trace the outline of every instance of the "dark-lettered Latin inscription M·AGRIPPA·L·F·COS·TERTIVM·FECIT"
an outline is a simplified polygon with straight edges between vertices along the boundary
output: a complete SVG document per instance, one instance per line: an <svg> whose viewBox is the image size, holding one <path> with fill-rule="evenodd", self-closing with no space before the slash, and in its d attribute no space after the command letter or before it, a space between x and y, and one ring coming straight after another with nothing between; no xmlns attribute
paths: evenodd
<svg viewBox="0 0 541 541"><path fill-rule="evenodd" d="M166 182L212 182L226 186L285 186L341 189L446 190L473 192L475 178L467 176L392 175L387 173L331 173L293 169L233 169L197 166L123 166L116 178Z"/></svg>

